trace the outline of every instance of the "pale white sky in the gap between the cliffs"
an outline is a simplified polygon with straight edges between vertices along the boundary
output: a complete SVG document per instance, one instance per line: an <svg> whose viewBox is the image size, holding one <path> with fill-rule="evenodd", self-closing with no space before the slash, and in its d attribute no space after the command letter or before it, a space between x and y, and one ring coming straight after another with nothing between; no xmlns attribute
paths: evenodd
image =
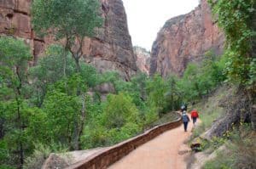
<svg viewBox="0 0 256 169"><path fill-rule="evenodd" d="M167 20L187 14L199 0L123 0L133 46L151 50L158 31Z"/></svg>

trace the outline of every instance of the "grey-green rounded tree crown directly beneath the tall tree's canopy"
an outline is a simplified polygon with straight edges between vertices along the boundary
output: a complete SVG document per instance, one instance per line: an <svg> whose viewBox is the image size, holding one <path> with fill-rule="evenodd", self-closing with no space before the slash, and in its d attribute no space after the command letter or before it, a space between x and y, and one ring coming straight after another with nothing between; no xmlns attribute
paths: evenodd
<svg viewBox="0 0 256 169"><path fill-rule="evenodd" d="M64 54L64 48L51 45L46 49L44 56L39 59L38 65L29 69L30 78L33 80L32 103L38 107L43 104L49 85L75 73L75 64L71 55L67 55L65 61ZM67 62L66 67L64 67L64 62ZM63 69L66 69L65 75Z"/></svg>

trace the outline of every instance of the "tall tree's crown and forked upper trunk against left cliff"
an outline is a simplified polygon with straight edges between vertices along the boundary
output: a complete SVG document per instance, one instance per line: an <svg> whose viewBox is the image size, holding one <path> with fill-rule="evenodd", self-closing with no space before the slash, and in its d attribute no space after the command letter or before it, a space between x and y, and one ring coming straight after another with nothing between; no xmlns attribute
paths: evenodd
<svg viewBox="0 0 256 169"><path fill-rule="evenodd" d="M98 0L35 0L32 24L42 36L50 33L56 40L64 39L65 51L72 54L80 71L84 37L93 36L95 28L102 26L100 11Z"/></svg>

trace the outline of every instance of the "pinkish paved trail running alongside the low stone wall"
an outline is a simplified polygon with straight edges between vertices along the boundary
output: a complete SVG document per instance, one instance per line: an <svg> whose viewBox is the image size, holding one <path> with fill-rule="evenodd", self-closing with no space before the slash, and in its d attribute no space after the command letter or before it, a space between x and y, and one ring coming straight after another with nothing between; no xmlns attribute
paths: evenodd
<svg viewBox="0 0 256 169"><path fill-rule="evenodd" d="M191 135L192 126L190 121L188 132L184 132L183 125L164 132L108 169L185 169L189 147L184 141Z"/></svg>

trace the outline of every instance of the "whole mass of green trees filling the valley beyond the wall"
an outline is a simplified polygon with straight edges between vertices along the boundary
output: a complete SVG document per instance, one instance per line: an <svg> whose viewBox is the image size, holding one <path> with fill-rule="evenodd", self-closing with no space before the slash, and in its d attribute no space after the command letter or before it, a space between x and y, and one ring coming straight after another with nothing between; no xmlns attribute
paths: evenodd
<svg viewBox="0 0 256 169"><path fill-rule="evenodd" d="M183 100L207 94L200 89L210 91L224 81L221 78L224 61L216 60L211 54L202 65L189 65L182 79L137 74L125 82L118 72L101 75L95 67L84 63L79 64L77 71L76 60L69 52L58 45L50 46L37 66L20 71L23 73L20 79L14 69L6 66L4 73L9 69L14 86L9 86L9 76L1 74L0 119L4 123L0 125L3 125L4 139L0 156L3 164L14 165L10 159L18 163L19 155L12 152L20 149L19 144L22 144L23 159L29 156L26 167L33 167L40 165L49 151L54 151L40 150L49 143L60 143L71 150L119 143L151 127L163 113L177 110ZM26 69L27 61L20 63L22 69ZM29 72L30 83L26 72ZM113 84L115 90L107 100L95 99L95 89L102 83ZM91 97L88 91L93 93ZM18 107L24 127L14 122L17 114L13 112Z"/></svg>

